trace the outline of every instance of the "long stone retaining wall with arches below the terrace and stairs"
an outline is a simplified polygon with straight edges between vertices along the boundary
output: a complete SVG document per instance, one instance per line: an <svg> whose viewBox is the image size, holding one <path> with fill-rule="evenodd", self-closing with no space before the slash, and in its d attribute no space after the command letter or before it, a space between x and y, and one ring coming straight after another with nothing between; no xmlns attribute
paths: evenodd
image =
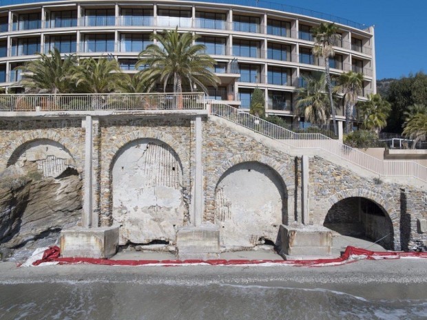
<svg viewBox="0 0 427 320"><path fill-rule="evenodd" d="M0 169L14 164L19 150L34 141L63 146L81 179L92 172L92 182L83 184L83 203L92 208L85 221L94 230L117 226L120 244L180 242L178 252L185 253L183 239L196 241L186 228L196 232L209 222L219 231L200 237L213 244L218 235L219 251L283 246L280 225L320 227L331 208L349 198L366 199L384 213L393 233L390 248L427 240L424 228L417 227L418 220L427 218L426 186L380 180L314 149L293 149L208 116L205 110L86 116L1 118ZM85 151L88 120L92 147ZM86 171L89 163L92 169ZM384 222L376 217L356 220L371 228L366 235L384 234Z"/></svg>

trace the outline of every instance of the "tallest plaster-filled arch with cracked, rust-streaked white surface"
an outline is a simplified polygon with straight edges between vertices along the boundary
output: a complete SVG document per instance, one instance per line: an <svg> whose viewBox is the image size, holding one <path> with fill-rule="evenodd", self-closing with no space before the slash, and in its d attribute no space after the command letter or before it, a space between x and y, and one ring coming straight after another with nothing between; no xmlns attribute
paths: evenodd
<svg viewBox="0 0 427 320"><path fill-rule="evenodd" d="M168 243L188 214L183 169L164 142L129 142L112 165L112 217L120 225L119 244Z"/></svg>

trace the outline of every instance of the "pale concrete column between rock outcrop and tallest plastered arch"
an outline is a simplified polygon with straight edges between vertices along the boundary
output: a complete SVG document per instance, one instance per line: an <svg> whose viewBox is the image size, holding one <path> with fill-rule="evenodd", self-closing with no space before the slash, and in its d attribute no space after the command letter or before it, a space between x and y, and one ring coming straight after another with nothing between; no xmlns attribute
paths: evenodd
<svg viewBox="0 0 427 320"><path fill-rule="evenodd" d="M92 226L92 116L85 119L85 181L83 195L83 228Z"/></svg>

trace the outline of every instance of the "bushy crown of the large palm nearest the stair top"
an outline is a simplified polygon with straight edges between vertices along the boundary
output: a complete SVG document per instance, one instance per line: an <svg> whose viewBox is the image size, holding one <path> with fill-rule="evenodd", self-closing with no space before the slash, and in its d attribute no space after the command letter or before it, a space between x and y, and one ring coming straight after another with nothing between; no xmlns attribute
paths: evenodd
<svg viewBox="0 0 427 320"><path fill-rule="evenodd" d="M190 32L180 34L176 28L164 30L163 34L152 34L150 39L156 40L158 44L148 45L140 52L136 64L136 67L147 66L143 71L143 78L150 82L150 91L156 81L163 83L164 91L168 84L172 84L174 93L183 92L184 86L191 92L196 86L207 93L207 86L217 87L220 83L218 76L211 72L216 61L204 53L205 45L193 44L198 36Z"/></svg>

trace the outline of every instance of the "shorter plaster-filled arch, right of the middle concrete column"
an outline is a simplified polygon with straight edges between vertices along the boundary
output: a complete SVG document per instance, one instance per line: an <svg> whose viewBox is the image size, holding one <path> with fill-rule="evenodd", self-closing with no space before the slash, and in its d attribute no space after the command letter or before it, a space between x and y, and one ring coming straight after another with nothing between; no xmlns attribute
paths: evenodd
<svg viewBox="0 0 427 320"><path fill-rule="evenodd" d="M222 250L275 244L287 216L287 190L282 177L260 162L228 169L216 186L215 224Z"/></svg>

